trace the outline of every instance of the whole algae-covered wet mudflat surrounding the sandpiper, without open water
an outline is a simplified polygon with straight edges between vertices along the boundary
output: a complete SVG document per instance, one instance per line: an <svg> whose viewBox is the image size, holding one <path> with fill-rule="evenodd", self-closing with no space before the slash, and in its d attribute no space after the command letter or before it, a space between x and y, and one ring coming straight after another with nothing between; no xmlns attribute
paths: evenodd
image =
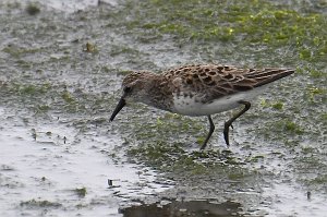
<svg viewBox="0 0 327 217"><path fill-rule="evenodd" d="M326 174L322 164L326 161L323 136L327 132L324 111L327 22L324 13L283 5L282 2L243 0L219 3L193 0L133 1L114 11L100 8L89 13L92 15L81 12L69 16L73 21L71 25L77 27L62 26L70 23L62 22L62 19L57 17L59 23L56 23L56 19L40 17L37 25L32 21L27 23L27 34L24 33L24 36L19 28L12 33L13 37L29 37L27 41L40 41L44 47L28 47L26 43L3 46L2 51L19 65L19 71L29 73L20 75L20 82L10 80L10 88L1 87L3 101L12 99L28 108L33 105L33 111L35 109L39 113L52 114L56 111L60 118L69 117L70 123L81 133L93 129L93 125L97 126L97 131L114 131L124 142L109 150L109 157L118 159L119 150L126 150L131 161L166 171L180 183L202 184L206 177L210 177L218 183L221 179L235 182L250 180L249 185L261 185L262 180L256 176L269 181L284 181L288 177L280 178L279 168L274 168L278 174L272 178L267 178L264 169L258 174L253 171L253 167L266 167L272 158L281 165L288 165L284 172L294 172L308 186L324 186L319 178L314 181L305 177L308 170L319 172L322 180ZM87 27L89 23L84 23L87 21L94 26L92 31ZM37 31L36 26L39 26ZM99 26L100 31L97 29ZM71 44L44 43L49 33L49 38L62 39L62 35L76 28L82 34L68 37ZM118 43L110 38L109 32L118 34ZM87 51L85 45L89 37L83 36L83 33L87 36L92 33L90 45L97 48L96 52L92 46ZM167 44L174 47L166 48ZM146 46L154 48L149 51ZM221 125L218 124L222 124L227 116L215 119L217 129L210 141L213 149L205 152L197 150L208 130L205 118L186 118L132 105L124 108L118 120L109 126L108 117L119 98L119 92L113 92L113 87L118 86L117 75L123 76L135 69L159 71L162 65L184 64L184 60L172 55L175 50L182 57L183 53L189 55L187 61L191 62L221 60L245 67L288 65L296 67L296 73L269 89L270 94L265 96L262 107L255 108L254 105L249 113L235 122L234 130L231 130L232 137L249 142L233 142L231 150L225 150L223 144L218 144L216 137L221 136ZM160 56L160 52L166 53ZM50 58L38 59L39 56ZM164 56L166 59L160 60ZM173 61L165 62L167 59ZM39 74L37 70L49 74L48 84L36 79ZM74 84L75 81L64 81L71 75L75 79L76 74L87 83L81 85ZM110 74L112 77L106 77ZM57 81L61 83L57 85ZM81 87L82 93L78 91ZM101 95L100 92L106 94ZM302 146L304 142L305 146ZM239 148L241 152L238 152ZM263 154L267 148L274 150L274 156L270 153ZM243 152L253 155L247 156ZM218 185L233 189L223 183Z"/></svg>

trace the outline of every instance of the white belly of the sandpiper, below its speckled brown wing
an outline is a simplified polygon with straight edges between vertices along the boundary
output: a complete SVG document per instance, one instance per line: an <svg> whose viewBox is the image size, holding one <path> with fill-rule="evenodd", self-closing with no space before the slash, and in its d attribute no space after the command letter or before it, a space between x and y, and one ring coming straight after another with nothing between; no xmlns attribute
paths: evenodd
<svg viewBox="0 0 327 217"><path fill-rule="evenodd" d="M208 116L219 113L241 106L240 100L249 101L262 93L264 87L249 92L240 92L214 100L210 104L195 101L195 98L173 96L173 112L184 116Z"/></svg>

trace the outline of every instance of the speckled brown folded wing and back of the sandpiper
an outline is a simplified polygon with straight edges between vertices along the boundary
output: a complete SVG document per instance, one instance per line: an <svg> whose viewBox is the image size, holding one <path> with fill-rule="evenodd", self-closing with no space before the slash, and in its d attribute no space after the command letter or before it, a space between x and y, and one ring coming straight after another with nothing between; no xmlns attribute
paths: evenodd
<svg viewBox="0 0 327 217"><path fill-rule="evenodd" d="M238 92L251 91L293 73L289 69L239 69L230 65L185 65L170 70L175 88L193 92L210 101Z"/></svg>

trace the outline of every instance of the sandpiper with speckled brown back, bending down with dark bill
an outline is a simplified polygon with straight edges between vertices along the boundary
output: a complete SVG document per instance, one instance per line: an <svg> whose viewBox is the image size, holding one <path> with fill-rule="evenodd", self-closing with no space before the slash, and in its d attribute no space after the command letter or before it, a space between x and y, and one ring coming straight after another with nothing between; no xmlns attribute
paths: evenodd
<svg viewBox="0 0 327 217"><path fill-rule="evenodd" d="M184 116L206 116L209 132L201 146L204 149L215 131L211 114L243 105L244 108L225 123L223 137L229 146L229 128L250 109L250 100L267 84L293 72L292 69L240 69L221 64L185 65L161 74L133 72L122 82L123 94L110 121L131 99Z"/></svg>

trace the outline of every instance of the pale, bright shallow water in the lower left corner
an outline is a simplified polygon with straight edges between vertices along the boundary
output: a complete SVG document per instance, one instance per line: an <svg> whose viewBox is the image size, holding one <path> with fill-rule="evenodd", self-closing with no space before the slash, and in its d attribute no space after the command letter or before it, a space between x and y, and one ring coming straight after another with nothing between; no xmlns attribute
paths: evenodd
<svg viewBox="0 0 327 217"><path fill-rule="evenodd" d="M123 201L171 188L154 183L156 173L145 167L108 158L118 137L82 135L59 121L26 124L5 108L0 117L1 216L118 216ZM76 193L83 188L85 196Z"/></svg>

